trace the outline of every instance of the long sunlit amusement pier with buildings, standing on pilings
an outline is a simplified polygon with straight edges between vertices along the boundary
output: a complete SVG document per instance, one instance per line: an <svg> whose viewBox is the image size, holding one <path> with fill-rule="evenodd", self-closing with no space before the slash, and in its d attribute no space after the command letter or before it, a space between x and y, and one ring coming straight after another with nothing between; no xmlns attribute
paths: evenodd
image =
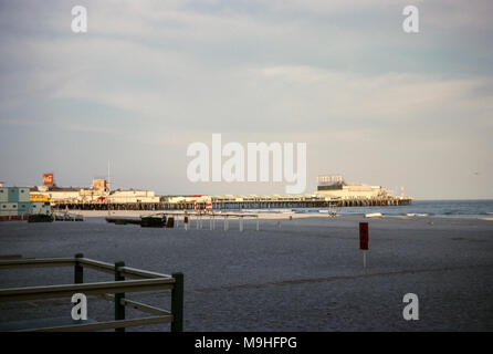
<svg viewBox="0 0 493 354"><path fill-rule="evenodd" d="M340 175L318 176L317 190L306 195L171 195L145 189L109 190L106 179L88 188L62 188L49 174L48 185L31 188L31 198L50 201L59 210L248 210L336 208L409 205L411 197L395 197L381 186L346 184ZM44 199L43 199L44 198Z"/></svg>

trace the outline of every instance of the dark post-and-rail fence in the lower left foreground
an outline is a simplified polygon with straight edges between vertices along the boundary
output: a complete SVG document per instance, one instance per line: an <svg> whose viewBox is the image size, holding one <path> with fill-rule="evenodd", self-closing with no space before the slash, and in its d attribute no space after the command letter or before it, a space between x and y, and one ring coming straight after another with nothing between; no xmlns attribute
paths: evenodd
<svg viewBox="0 0 493 354"><path fill-rule="evenodd" d="M25 321L24 331L35 332L86 332L115 329L124 332L125 327L170 323L171 332L183 330L183 274L171 275L125 267L124 262L114 264L84 258L82 253L74 258L14 259L0 260L0 270L12 268L74 267L74 284L0 289L0 302L55 299L72 296L75 293L99 295L114 302L115 320L105 322L80 322L56 324L56 321ZM94 269L115 275L115 281L84 283L84 268ZM171 291L171 311L150 306L125 298L125 293L143 291ZM114 294L114 295L112 295ZM125 319L125 308L129 306L151 316ZM70 316L67 315L70 319ZM75 322L75 321L73 321ZM50 325L44 325L50 323ZM55 324L53 324L55 323ZM30 325L31 324L31 325ZM34 326L32 325L34 324Z"/></svg>

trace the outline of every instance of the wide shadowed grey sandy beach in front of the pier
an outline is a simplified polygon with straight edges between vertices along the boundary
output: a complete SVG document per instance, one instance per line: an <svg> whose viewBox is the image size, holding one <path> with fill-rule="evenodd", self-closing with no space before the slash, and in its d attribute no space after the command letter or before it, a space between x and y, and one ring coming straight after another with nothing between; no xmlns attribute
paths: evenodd
<svg viewBox="0 0 493 354"><path fill-rule="evenodd" d="M262 215L210 230L107 223L106 211L83 222L0 223L0 256L71 257L162 273L185 273L186 331L492 331L493 220L439 217ZM143 212L116 212L135 217ZM280 221L280 222L279 222ZM363 269L358 222L369 222ZM87 271L85 281L111 280ZM71 268L0 270L0 287L61 284ZM419 321L405 321L402 296L419 296ZM132 294L168 306L161 292ZM0 322L70 315L70 299L0 303ZM127 316L139 313L128 310ZM88 315L111 320L113 306L88 300ZM168 331L168 325L128 331Z"/></svg>

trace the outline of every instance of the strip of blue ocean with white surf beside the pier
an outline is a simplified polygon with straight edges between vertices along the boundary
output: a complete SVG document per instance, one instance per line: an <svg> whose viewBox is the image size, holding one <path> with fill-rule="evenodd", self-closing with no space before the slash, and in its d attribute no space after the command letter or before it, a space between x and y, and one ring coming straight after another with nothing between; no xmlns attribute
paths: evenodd
<svg viewBox="0 0 493 354"><path fill-rule="evenodd" d="M327 208L293 208L296 214L319 214ZM409 206L335 208L340 215L381 212L384 216L433 216L457 218L493 218L493 200L413 200ZM232 210L229 210L232 211ZM242 210L246 211L246 210ZM289 212L290 209L254 209L253 212Z"/></svg>

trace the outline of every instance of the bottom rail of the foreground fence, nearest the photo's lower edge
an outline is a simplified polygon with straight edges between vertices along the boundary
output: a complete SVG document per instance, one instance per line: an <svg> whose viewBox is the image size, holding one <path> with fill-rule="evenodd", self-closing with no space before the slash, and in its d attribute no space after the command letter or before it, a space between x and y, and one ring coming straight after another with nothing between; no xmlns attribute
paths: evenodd
<svg viewBox="0 0 493 354"><path fill-rule="evenodd" d="M98 323L64 325L57 327L34 329L21 332L90 332L170 322L172 322L172 315L164 315L133 320L117 320Z"/></svg>

